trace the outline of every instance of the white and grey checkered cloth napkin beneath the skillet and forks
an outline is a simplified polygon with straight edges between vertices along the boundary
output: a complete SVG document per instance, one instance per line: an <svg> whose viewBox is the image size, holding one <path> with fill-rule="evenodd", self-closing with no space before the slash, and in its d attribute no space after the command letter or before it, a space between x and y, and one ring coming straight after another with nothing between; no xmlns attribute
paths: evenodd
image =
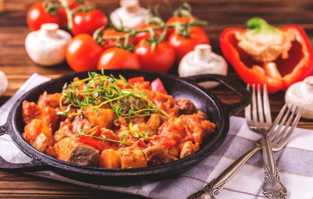
<svg viewBox="0 0 313 199"><path fill-rule="evenodd" d="M6 122L8 112L13 103L33 87L49 81L34 73L24 85L0 108L0 125ZM53 172L32 172L30 175L70 182L86 187L124 192L150 198L186 198L202 189L212 179L218 177L223 170L244 152L254 147L259 134L251 132L244 118L231 117L228 136L223 145L210 157L181 174L160 182L148 182L131 187L99 186L74 181ZM287 147L275 152L276 164L282 182L289 193L287 198L313 198L313 131L297 128ZM13 163L29 162L30 158L23 154L11 141L8 135L0 137L0 155ZM218 198L265 198L261 192L263 182L263 157L259 151L226 183Z"/></svg>

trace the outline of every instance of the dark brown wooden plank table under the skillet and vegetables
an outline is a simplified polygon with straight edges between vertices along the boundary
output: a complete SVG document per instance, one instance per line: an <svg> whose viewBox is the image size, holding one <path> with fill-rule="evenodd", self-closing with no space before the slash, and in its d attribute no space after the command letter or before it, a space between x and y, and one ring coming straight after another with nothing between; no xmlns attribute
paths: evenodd
<svg viewBox="0 0 313 199"><path fill-rule="evenodd" d="M34 64L24 48L24 39L30 30L26 24L28 8L36 0L0 0L0 70L8 77L8 90L0 98L0 105L6 102L16 90L33 74L37 72L51 78L72 72L66 63L54 67L41 67ZM110 13L119 6L117 0L95 1L98 8ZM158 0L141 0L145 7L159 3ZM171 1L174 7L178 7L181 1ZM221 54L219 48L220 33L227 27L243 27L242 24L251 17L259 16L268 20L269 23L281 26L284 24L299 24L302 26L313 42L313 2L311 0L190 0L193 13L200 19L208 20L210 25L206 28L213 51ZM160 13L163 19L170 17L167 7L160 3ZM175 72L174 72L175 73ZM229 78L244 83L230 67ZM223 102L234 103L239 100L233 92L224 87L213 89ZM273 117L284 104L284 93L278 92L270 95ZM237 116L243 116L243 112ZM298 127L313 129L313 122L301 119ZM25 174L8 173L0 171L0 198L3 197L55 197L55 198L140 198L115 192L81 187L65 182L33 177Z"/></svg>

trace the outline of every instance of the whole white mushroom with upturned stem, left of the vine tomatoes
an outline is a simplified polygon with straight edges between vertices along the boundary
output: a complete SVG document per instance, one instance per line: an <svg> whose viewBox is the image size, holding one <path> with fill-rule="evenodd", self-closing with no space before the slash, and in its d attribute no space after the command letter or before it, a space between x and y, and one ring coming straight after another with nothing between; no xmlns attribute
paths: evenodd
<svg viewBox="0 0 313 199"><path fill-rule="evenodd" d="M40 30L30 32L25 39L25 48L33 62L53 66L65 61L66 47L72 36L60 30L56 23L45 23Z"/></svg>

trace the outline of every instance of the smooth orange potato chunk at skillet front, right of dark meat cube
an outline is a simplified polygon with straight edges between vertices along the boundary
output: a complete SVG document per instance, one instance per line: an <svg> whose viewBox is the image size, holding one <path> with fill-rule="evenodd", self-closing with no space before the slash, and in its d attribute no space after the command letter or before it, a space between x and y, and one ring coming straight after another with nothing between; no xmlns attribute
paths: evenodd
<svg viewBox="0 0 313 199"><path fill-rule="evenodd" d="M119 152L114 149L106 149L99 156L99 166L101 168L118 169L121 168Z"/></svg>

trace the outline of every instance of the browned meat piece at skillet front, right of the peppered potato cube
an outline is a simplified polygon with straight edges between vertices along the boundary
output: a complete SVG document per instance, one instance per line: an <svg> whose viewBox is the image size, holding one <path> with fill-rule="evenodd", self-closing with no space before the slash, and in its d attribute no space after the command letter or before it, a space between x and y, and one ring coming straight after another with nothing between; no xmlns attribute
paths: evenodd
<svg viewBox="0 0 313 199"><path fill-rule="evenodd" d="M148 164L151 166L164 164L177 160L176 157L168 155L168 149L164 145L153 145L143 150Z"/></svg>

